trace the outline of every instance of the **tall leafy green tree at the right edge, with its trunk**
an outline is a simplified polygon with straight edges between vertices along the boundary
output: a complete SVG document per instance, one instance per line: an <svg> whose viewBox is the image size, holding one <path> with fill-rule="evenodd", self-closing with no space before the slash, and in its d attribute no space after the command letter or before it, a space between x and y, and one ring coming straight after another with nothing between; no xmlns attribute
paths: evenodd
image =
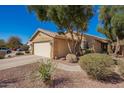
<svg viewBox="0 0 124 93"><path fill-rule="evenodd" d="M103 33L112 45L116 42L114 54L120 50L119 41L124 39L124 6L101 6L98 31Z"/></svg>

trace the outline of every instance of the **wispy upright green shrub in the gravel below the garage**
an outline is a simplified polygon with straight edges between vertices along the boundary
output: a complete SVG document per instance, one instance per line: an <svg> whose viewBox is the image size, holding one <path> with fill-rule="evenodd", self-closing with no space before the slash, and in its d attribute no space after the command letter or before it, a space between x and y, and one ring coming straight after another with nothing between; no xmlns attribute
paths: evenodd
<svg viewBox="0 0 124 93"><path fill-rule="evenodd" d="M40 78L45 84L51 82L53 71L55 70L55 65L52 64L51 60L41 60L41 65L39 67Z"/></svg>

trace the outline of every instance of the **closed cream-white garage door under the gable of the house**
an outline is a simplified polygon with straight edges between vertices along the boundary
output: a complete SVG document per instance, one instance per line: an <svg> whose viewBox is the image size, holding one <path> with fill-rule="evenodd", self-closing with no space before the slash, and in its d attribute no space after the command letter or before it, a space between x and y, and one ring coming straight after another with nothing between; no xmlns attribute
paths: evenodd
<svg viewBox="0 0 124 93"><path fill-rule="evenodd" d="M34 55L50 58L50 42L34 43Z"/></svg>

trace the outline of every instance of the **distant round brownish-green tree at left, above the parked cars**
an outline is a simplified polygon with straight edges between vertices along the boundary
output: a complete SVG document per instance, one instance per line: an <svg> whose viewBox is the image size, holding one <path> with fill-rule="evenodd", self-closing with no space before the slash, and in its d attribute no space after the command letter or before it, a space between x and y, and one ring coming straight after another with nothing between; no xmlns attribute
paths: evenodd
<svg viewBox="0 0 124 93"><path fill-rule="evenodd" d="M22 43L21 43L21 39L15 36L12 36L9 38L7 45L9 48L20 48Z"/></svg>

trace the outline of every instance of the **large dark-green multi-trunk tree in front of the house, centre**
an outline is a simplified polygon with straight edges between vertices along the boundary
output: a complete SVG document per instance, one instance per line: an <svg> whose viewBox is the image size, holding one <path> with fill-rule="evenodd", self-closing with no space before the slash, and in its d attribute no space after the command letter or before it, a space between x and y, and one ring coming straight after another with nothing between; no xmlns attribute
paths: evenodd
<svg viewBox="0 0 124 93"><path fill-rule="evenodd" d="M88 21L93 16L92 6L29 6L29 11L34 11L39 20L54 22L59 31L65 30L71 34L74 49L68 47L71 53L79 52L82 33L87 31ZM76 33L77 40L74 40Z"/></svg>

